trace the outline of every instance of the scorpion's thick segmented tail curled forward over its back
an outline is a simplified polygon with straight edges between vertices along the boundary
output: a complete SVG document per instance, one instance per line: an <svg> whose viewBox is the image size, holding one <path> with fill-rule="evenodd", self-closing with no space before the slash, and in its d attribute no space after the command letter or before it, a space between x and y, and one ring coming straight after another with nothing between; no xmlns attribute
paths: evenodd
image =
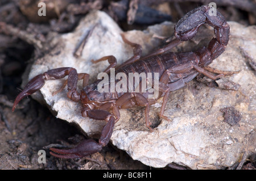
<svg viewBox="0 0 256 181"><path fill-rule="evenodd" d="M220 56L226 49L229 41L229 24L224 16L209 6L200 6L189 11L175 26L175 36L181 41L187 41L196 36L202 24L209 24L214 28L214 37L208 47L203 47L195 53L199 57L199 66L204 67Z"/></svg>

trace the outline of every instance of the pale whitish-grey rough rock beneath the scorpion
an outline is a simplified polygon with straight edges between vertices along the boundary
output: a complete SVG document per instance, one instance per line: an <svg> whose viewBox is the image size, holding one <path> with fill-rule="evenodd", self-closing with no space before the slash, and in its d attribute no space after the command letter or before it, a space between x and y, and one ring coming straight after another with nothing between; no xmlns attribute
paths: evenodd
<svg viewBox="0 0 256 181"><path fill-rule="evenodd" d="M95 24L81 57L73 56L77 46ZM256 153L256 77L249 63L256 60L256 27L244 27L235 22L229 24L230 41L226 51L210 66L221 70L241 70L238 74L225 77L236 85L239 83L240 89L234 91L209 87L201 83L209 82L205 77L206 81L193 80L183 89L171 92L164 111L171 121L158 117L161 99L150 107L153 132L149 132L144 123L144 108L121 110L121 119L115 125L110 140L113 145L125 150L133 159L152 167L164 167L174 162L191 169L221 169L238 162L245 151ZM76 68L78 73L90 74L92 82L108 66L108 62L92 64L92 59L114 55L118 64L121 64L132 56L133 49L123 43L121 32L104 12L90 12L74 32L52 39L57 45L50 53L35 61L28 79L49 69L69 66ZM164 22L144 31L125 32L125 36L141 44L145 55L162 43L162 40L152 36L171 36L172 33L174 24ZM173 51L196 50L207 45L213 36L212 28L202 27L195 39L180 44ZM245 56L245 53L250 57ZM32 97L42 101L43 95L57 117L76 123L88 136L98 138L104 121L82 117L81 104L67 98L67 89L52 96L63 82L63 79L47 81ZM225 107L233 107L241 113L241 120L237 124L225 123L224 113L220 111Z"/></svg>

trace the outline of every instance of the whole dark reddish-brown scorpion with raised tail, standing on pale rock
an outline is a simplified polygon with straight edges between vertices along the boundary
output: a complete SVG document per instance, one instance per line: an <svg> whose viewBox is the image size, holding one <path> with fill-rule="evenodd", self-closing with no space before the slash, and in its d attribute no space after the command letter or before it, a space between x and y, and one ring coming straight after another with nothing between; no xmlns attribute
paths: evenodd
<svg viewBox="0 0 256 181"><path fill-rule="evenodd" d="M199 73L213 80L225 75L225 73L220 73L220 70L218 70L217 73L205 68L225 51L229 41L229 24L219 11L216 11L216 15L210 15L210 10L211 7L209 6L200 6L189 11L175 25L175 38L164 47L155 50L155 52L146 57L141 57L141 45L131 43L123 34L121 34L123 41L133 47L133 56L129 58L129 60L119 66L117 66L117 60L114 56L105 56L99 60L93 61L96 63L108 60L110 65L104 71L105 73L109 73L111 68L117 68L115 74L120 72L125 73L126 75L131 72L159 73L159 95L157 98L149 99L148 91L99 92L97 90L97 85L101 80L88 84L89 74L77 73L75 68L56 68L32 78L24 87L24 90L16 96L12 111L15 110L17 104L25 96L40 90L40 88L44 86L45 81L61 79L68 75L67 81L64 82L59 91L63 90L67 85L68 98L74 102L81 102L82 117L89 117L94 120L105 120L106 124L102 128L98 142L89 139L80 142L80 144L72 149L50 148L51 155L59 158L81 158L101 151L101 149L110 141L114 125L120 118L120 109L131 108L134 106L146 107L144 110L146 127L150 131L153 131L150 127L149 112L150 105L156 103L156 100L163 97L159 117L168 120L163 113L171 91L181 89L181 87L184 87L186 83L195 78ZM208 47L200 48L195 52L174 53L168 51L182 41L188 41L195 37L199 27L205 23L214 28L216 36L210 40ZM78 80L83 80L84 88L80 92L77 91ZM152 86L154 86L154 83L152 83ZM53 94L56 94L59 91L56 91Z"/></svg>

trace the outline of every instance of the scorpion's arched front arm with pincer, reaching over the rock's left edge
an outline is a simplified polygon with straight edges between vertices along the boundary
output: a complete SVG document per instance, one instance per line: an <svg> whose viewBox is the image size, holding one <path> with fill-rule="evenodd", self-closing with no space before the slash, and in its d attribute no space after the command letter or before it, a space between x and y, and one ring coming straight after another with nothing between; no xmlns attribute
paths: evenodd
<svg viewBox="0 0 256 181"><path fill-rule="evenodd" d="M80 100L79 92L77 92L77 80L78 75L77 71L74 68L57 68L48 70L43 74L36 75L36 77L32 78L31 81L27 83L24 87L24 90L19 93L19 95L14 100L12 111L15 110L17 104L22 100L25 96L31 95L34 92L38 91L44 86L45 81L51 79L60 79L64 78L68 75L68 98L78 102Z"/></svg>

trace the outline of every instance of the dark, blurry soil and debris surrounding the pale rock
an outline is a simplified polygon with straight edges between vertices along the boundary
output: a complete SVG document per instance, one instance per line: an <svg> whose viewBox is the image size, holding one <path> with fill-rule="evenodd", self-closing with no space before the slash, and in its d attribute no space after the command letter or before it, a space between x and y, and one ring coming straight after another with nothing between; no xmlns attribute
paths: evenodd
<svg viewBox="0 0 256 181"><path fill-rule="evenodd" d="M35 4L36 6L33 6ZM46 19L34 18L34 13L38 12L37 4L40 1L1 1L0 2L0 169L154 169L143 165L139 161L134 161L125 153L109 144L100 153L90 155L82 159L59 159L49 154L47 149L51 144L73 145L86 138L75 125L57 119L47 107L42 106L28 96L24 99L15 112L11 112L15 96L18 95L22 84L22 75L27 66L35 58L42 56L46 52L38 52L31 37L14 35L6 31L6 24L13 28L18 28L27 32L27 35L34 37L36 41L44 41L44 37L50 31L65 33L72 31L82 16L88 12L87 9L98 9L108 12L126 30L143 30L149 24L160 23L155 19L147 19L135 16L130 7L130 14L126 16L129 6L124 10L117 10L118 2L112 1L63 1L58 9L50 10L52 14ZM49 1L44 1L49 4ZM59 1L55 1L59 3ZM122 1L126 2L126 1ZM136 5L136 1L134 2ZM148 7L158 12L166 14L173 22L185 12L205 4L205 1L159 1L160 4L150 4ZM227 1L229 2L229 1ZM238 1L237 1L238 2ZM254 1L255 2L255 1ZM220 4L222 1L220 1ZM251 6L254 6L253 1ZM73 6L68 6L68 5ZM125 3L126 4L126 3ZM218 6L218 4L217 4ZM55 6L57 7L57 6ZM81 7L80 14L77 9ZM111 7L111 8L110 8ZM135 6L136 7L136 6ZM229 6L222 3L220 11L228 20L240 22L245 25L256 23L255 9L237 6ZM73 9L72 9L73 8ZM76 9L77 8L77 9ZM72 11L73 10L73 11ZM138 11L141 9L138 9ZM186 11L185 11L186 10ZM124 18L121 12L125 14ZM143 10L141 10L143 11ZM144 11L143 11L144 12ZM121 14L118 14L121 13ZM162 21L166 20L163 18ZM127 21L134 22L128 24ZM149 22L148 22L149 21ZM129 21L128 21L129 22ZM38 151L46 150L46 163L38 163ZM241 161L244 163L242 169L255 169L255 158ZM236 166L238 163L236 163ZM227 169L236 169L227 168ZM183 167L170 164L163 169L184 169Z"/></svg>

